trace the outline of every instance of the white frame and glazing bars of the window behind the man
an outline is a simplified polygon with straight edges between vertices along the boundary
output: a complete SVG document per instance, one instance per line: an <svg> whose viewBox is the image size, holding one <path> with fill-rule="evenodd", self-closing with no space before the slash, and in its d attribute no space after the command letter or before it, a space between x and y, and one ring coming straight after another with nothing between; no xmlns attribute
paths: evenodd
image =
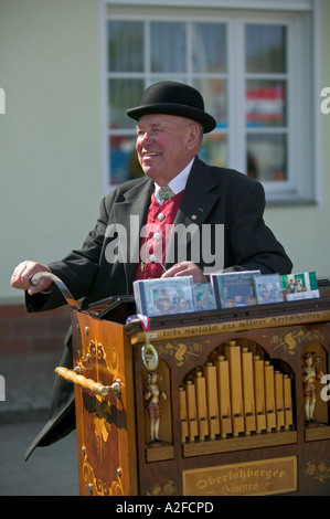
<svg viewBox="0 0 330 519"><path fill-rule="evenodd" d="M241 9L203 9L203 11L195 9L193 1L190 2L192 6L191 9L175 9L161 8L160 6L152 3L153 8L143 8L146 2L135 2L140 7L130 9L129 12L127 9L123 8L127 2L117 1L115 4L108 4L107 1L104 2L103 7L105 8L104 14L104 106L108 107L108 92L107 84L110 76L109 71L107 70L107 22L109 19L114 20L140 20L145 22L145 31L147 30L147 23L152 21L184 21L188 24L193 22L212 22L215 21L219 23L226 23L228 27L227 30L227 64L228 68L226 74L217 74L217 78L221 76L227 75L227 89L233 92L236 89L238 92L238 102L237 96L228 96L228 126L227 128L222 128L221 130L216 129L214 131L220 131L227 134L227 167L237 169L238 171L245 171L245 161L246 161L246 134L247 133L258 133L258 129L251 131L245 128L245 71L244 71L244 54L242 51L241 55L237 54L237 47L243 50L244 42L244 27L246 23L266 23L266 24L281 24L287 27L287 99L288 99L288 112L287 112L287 133L290 138L290 145L288 146L288 159L287 159L287 170L288 179L285 181L262 181L266 191L267 203L270 205L286 205L286 204L315 204L317 203L318 194L318 168L317 168L317 157L316 157L316 136L317 136L317 120L315 117L315 103L312 99L316 92L316 74L315 74L315 43L313 43L313 20L311 12L311 1L297 1L294 2L296 10L291 11L281 6L280 10L267 10L265 8L265 2L263 2L263 9L247 10L242 9L242 2L234 3ZM131 3L131 2L130 2ZM161 3L161 2L160 2ZM182 3L182 2L180 2ZM209 4L210 2L207 2ZM212 2L211 2L212 3ZM221 3L221 2L219 2ZM224 2L226 3L226 2ZM253 3L253 2L249 2ZM269 1L268 6L274 4ZM290 2L288 2L290 3ZM288 3L286 6L288 7ZM292 3L292 2L291 2ZM205 8L207 7L205 4ZM238 6L241 4L241 6ZM299 6L298 6L299 4ZM278 6L278 4L277 4ZM233 6L232 6L233 7ZM292 8L292 6L291 6ZM216 18L214 18L216 14ZM148 38L148 35L147 35ZM146 40L147 42L147 40ZM146 43L145 45L145 60L147 63L150 63L149 60L149 49L150 45ZM244 49L245 50L245 49ZM299 52L298 52L299 50ZM302 52L301 52L302 50ZM239 52L238 52L239 54ZM302 57L296 59L300 54L305 57L305 62L308 60L309 70L307 71L304 66ZM237 63L237 60L241 61L238 66L238 72L233 73L233 63ZM120 73L120 77L143 77L145 86L150 84L151 73L150 70L147 70L142 73ZM157 74L161 76L161 74ZM187 75L183 73L183 75ZM202 74L203 75L203 74ZM114 75L113 75L114 76ZM177 74L171 75L173 80ZM182 75L180 74L182 77ZM209 74L205 74L209 77ZM315 77L315 80L312 80ZM187 81L191 82L190 71L188 71ZM300 88L300 85L304 84L305 88ZM306 110L302 114L299 107L305 106ZM105 110L106 112L106 110ZM108 128L108 116L104 114L103 117L103 135L105 136L104 145L104 192L108 192L113 187L110 186L110 171L109 171L109 161L108 161L108 140L109 135L123 135L121 130L109 130ZM294 123L295 121L295 125ZM294 125L294 126L292 126ZM310 128L307 128L307 125ZM268 130L267 130L268 131ZM274 131L274 128L270 128L269 131ZM280 129L276 129L280 131ZM275 133L276 133L275 131ZM125 130L125 135L135 136L135 130ZM237 149L241 150L239 156L237 157Z"/></svg>

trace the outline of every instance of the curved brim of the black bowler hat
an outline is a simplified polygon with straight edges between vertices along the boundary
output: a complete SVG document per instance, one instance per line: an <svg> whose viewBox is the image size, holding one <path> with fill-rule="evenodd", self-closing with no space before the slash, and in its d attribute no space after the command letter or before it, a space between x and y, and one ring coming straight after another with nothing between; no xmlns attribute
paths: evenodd
<svg viewBox="0 0 330 519"><path fill-rule="evenodd" d="M204 134L209 134L216 127L216 120L212 115L189 105L158 103L152 105L141 105L127 110L127 115L135 120L139 120L142 115L148 114L167 114L188 117L189 119L200 123L203 126Z"/></svg>

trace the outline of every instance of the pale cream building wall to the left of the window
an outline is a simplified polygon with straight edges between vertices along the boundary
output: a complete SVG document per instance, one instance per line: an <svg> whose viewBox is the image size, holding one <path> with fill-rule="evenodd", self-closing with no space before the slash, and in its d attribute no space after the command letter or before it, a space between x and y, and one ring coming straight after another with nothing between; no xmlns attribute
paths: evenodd
<svg viewBox="0 0 330 519"><path fill-rule="evenodd" d="M0 0L0 298L14 266L78 247L102 195L99 8Z"/></svg>

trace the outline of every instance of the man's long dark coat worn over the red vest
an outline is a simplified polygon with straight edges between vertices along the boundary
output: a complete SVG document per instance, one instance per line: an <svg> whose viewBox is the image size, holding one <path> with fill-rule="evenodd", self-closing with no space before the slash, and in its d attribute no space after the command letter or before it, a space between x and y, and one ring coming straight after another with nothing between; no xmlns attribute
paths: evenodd
<svg viewBox="0 0 330 519"><path fill-rule="evenodd" d="M110 295L132 293L137 261L113 262L114 253L126 252L128 260L136 260L140 236L136 222L143 225L147 216L153 182L145 177L126 182L111 191L100 203L99 219L88 234L83 248L73 251L63 261L50 264L52 272L68 287L76 299L83 299L83 307ZM239 265L245 269L260 269L262 273L288 274L292 264L284 247L265 225L263 213L265 193L260 183L234 170L206 166L199 158L194 160L188 183L177 214L175 225L194 229L211 224L224 224L223 268ZM135 220L131 220L131 215ZM119 240L116 224L120 227ZM198 227L196 227L198 226ZM123 232L125 230L125 232ZM127 234L126 234L127 233ZM188 235L188 255L196 239ZM214 247L215 235L211 237ZM180 242L180 240L179 240ZM182 242L182 241L181 241ZM210 266L204 257L200 240L199 265ZM125 248L129 244L128 248ZM173 251L167 267L180 261L179 244L169 242ZM185 248L185 247L184 247ZM184 251L185 252L185 251ZM217 268L219 269L219 268ZM54 288L50 296L26 296L29 311L47 310L65 303ZM72 363L71 341L66 341L63 366ZM47 445L74 427L74 402L72 384L58 379L51 401L50 421L26 453L36 445Z"/></svg>

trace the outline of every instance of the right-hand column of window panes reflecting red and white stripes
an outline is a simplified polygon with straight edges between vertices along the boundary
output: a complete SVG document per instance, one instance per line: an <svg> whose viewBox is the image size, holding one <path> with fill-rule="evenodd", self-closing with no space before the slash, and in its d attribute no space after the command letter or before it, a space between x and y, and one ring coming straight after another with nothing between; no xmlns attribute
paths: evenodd
<svg viewBox="0 0 330 519"><path fill-rule="evenodd" d="M245 27L246 169L262 182L287 180L286 39L285 25Z"/></svg>

